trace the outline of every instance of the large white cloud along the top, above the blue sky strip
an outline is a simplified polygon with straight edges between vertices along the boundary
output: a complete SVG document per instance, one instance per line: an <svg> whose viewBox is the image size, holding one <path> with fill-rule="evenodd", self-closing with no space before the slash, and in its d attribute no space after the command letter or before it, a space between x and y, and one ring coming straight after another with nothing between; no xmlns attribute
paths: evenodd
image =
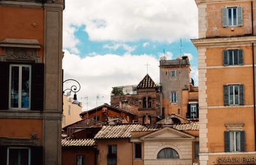
<svg viewBox="0 0 256 165"><path fill-rule="evenodd" d="M79 43L74 32L82 25L93 41L173 42L198 34L197 7L191 0L67 0L63 14L65 48Z"/></svg>

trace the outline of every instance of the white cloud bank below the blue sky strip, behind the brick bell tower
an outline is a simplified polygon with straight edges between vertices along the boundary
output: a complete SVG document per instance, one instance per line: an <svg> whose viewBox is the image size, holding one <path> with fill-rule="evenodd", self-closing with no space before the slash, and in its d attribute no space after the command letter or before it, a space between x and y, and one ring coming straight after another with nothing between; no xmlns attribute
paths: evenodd
<svg viewBox="0 0 256 165"><path fill-rule="evenodd" d="M96 96L98 106L104 102L109 103L111 87L131 85L140 83L141 79L147 74L152 79L159 82L159 60L152 55L141 54L134 56L125 54L97 54L81 58L65 50L63 58L64 79L76 79L81 84L81 91L77 93L77 98L88 96L88 109L96 106ZM83 102L83 110L86 110L86 100Z"/></svg>

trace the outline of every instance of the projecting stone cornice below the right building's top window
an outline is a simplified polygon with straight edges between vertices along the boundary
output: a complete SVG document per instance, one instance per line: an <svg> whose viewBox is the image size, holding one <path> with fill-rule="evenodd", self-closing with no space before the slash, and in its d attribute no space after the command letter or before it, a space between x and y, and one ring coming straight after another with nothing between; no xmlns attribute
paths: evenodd
<svg viewBox="0 0 256 165"><path fill-rule="evenodd" d="M238 36L238 37L225 37L225 38L201 38L191 39L196 49L208 47L227 47L227 46L241 46L256 43L256 36Z"/></svg>

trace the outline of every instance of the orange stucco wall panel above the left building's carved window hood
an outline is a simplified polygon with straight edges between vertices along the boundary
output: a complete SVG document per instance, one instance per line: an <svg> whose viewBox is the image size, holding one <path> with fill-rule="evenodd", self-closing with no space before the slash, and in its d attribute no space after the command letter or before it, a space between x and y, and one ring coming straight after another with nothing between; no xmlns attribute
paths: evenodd
<svg viewBox="0 0 256 165"><path fill-rule="evenodd" d="M36 39L41 43L38 56L44 59L44 10L0 7L0 41L5 38ZM36 23L34 28L31 24ZM0 47L0 54L3 49Z"/></svg>

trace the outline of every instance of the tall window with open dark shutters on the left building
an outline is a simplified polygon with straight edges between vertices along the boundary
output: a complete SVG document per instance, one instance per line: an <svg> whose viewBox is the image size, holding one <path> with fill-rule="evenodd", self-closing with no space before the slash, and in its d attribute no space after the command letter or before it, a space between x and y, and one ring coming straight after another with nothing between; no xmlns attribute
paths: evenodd
<svg viewBox="0 0 256 165"><path fill-rule="evenodd" d="M44 63L0 61L0 110L44 109Z"/></svg>

